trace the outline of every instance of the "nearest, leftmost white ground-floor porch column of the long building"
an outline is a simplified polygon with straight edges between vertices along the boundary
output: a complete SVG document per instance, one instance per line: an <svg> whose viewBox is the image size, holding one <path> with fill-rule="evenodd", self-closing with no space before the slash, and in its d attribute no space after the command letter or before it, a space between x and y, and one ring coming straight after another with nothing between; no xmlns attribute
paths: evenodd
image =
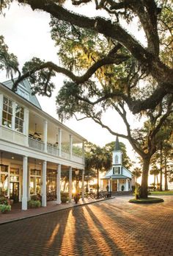
<svg viewBox="0 0 173 256"><path fill-rule="evenodd" d="M28 157L23 157L23 193L22 193L22 210L27 210L27 171Z"/></svg>

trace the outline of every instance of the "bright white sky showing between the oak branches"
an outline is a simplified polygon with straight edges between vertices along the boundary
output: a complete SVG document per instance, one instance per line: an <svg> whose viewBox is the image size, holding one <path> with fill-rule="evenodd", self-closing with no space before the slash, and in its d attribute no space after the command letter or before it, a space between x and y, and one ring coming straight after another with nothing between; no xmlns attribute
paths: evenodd
<svg viewBox="0 0 173 256"><path fill-rule="evenodd" d="M69 6L69 1L67 1L67 5ZM85 7L81 13L87 13L90 16L95 15L94 9L91 8L91 6ZM5 16L0 16L0 35L4 35L5 43L9 46L10 52L18 56L20 67L27 60L32 59L32 57L40 57L42 60L51 60L57 65L60 64L56 55L54 41L51 40L49 21L50 16L47 13L41 11L33 12L30 7L19 6L17 3L11 5L10 10L7 10ZM135 27L133 27L133 34L139 38L143 36ZM6 79L4 73L0 74L1 82L4 82ZM37 96L43 110L54 116L54 118L58 118L55 99L64 79L65 76L62 75L58 75L54 79L56 90L54 90L51 99L45 96ZM129 119L132 126L136 125L133 115L129 115ZM114 113L113 110L106 112L103 116L103 121L115 132L125 133L125 125L119 115ZM70 121L66 121L64 124L78 132L87 141L91 141L99 146L115 141L114 135L111 135L106 129L102 129L92 120L76 121L76 118L71 118ZM135 154L130 143L122 138L119 138L119 141L125 143L129 157L131 160L134 160Z"/></svg>

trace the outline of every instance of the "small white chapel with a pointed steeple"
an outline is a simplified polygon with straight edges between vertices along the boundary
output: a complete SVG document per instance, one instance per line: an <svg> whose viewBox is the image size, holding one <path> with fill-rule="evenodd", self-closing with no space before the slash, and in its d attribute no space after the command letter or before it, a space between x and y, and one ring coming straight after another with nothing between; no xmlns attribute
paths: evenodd
<svg viewBox="0 0 173 256"><path fill-rule="evenodd" d="M103 180L103 191L117 192L130 191L132 185L132 173L122 166L122 151L120 150L118 137L112 154L112 167L107 171Z"/></svg>

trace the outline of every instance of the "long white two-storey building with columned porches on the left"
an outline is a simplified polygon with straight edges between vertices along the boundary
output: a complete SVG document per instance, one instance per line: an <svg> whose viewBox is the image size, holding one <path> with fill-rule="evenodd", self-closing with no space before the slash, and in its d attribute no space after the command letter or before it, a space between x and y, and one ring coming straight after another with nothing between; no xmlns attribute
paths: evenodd
<svg viewBox="0 0 173 256"><path fill-rule="evenodd" d="M72 198L72 171L82 171L84 196L85 139L45 113L28 80L14 93L12 82L0 84L0 193L27 210L30 196L40 193L61 203L61 171L69 170L69 197ZM81 146L81 154L74 147ZM80 151L80 150L79 150Z"/></svg>

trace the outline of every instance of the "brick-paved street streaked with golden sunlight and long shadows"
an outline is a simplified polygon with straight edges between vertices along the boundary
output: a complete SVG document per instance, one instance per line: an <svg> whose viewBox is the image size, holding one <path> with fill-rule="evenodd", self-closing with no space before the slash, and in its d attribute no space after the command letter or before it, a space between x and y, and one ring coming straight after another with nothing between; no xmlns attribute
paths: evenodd
<svg viewBox="0 0 173 256"><path fill-rule="evenodd" d="M0 255L173 255L173 196L117 197L0 225Z"/></svg>

